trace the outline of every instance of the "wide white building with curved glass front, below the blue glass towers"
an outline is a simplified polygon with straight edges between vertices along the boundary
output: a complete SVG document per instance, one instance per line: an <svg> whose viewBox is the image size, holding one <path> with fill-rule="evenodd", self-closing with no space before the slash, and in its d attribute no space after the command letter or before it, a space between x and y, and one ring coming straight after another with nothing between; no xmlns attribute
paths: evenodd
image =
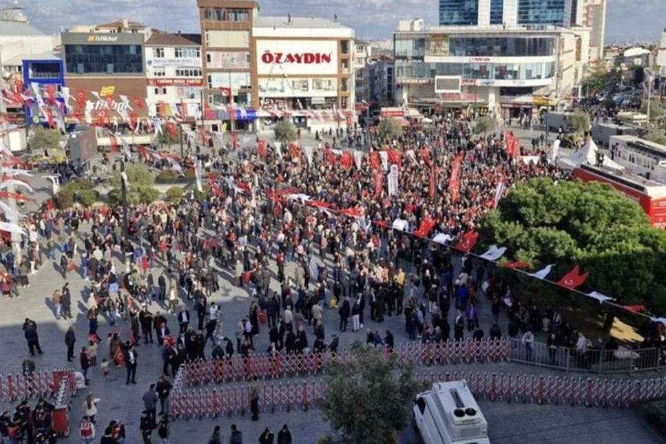
<svg viewBox="0 0 666 444"><path fill-rule="evenodd" d="M555 107L576 84L576 34L566 28L440 27L394 32L397 102L433 112L477 108L517 116Z"/></svg>

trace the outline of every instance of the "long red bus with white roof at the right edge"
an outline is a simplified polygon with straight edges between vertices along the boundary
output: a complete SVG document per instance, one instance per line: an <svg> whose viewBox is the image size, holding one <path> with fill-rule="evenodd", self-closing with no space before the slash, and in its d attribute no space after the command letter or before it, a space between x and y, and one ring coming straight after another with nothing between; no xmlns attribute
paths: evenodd
<svg viewBox="0 0 666 444"><path fill-rule="evenodd" d="M627 199L641 205L652 226L666 229L666 185L626 171L615 172L609 169L582 164L574 169L574 177L583 182L610 184Z"/></svg>

